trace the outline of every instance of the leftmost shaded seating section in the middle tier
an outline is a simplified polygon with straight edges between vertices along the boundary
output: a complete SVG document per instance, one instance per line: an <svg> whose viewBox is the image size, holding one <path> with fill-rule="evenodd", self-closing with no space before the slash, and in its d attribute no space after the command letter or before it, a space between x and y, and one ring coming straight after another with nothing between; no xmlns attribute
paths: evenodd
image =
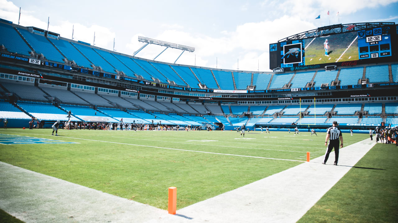
<svg viewBox="0 0 398 223"><path fill-rule="evenodd" d="M9 92L16 93L23 100L48 102L48 99L44 97L46 94L33 85L20 85L6 82L2 83L2 85L7 88Z"/></svg>

